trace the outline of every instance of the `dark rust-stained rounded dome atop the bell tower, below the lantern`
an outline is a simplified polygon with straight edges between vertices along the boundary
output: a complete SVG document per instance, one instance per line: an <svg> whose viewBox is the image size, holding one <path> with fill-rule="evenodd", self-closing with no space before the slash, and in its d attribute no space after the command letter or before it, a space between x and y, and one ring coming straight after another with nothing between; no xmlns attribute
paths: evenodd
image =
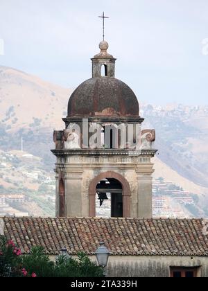
<svg viewBox="0 0 208 291"><path fill-rule="evenodd" d="M135 93L124 82L110 77L83 82L69 98L68 117L138 117Z"/></svg>

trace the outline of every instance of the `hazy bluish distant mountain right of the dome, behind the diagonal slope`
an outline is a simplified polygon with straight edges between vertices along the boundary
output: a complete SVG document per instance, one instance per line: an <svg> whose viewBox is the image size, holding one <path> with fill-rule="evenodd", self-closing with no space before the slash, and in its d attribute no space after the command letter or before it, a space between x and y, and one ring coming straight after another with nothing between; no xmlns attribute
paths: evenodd
<svg viewBox="0 0 208 291"><path fill-rule="evenodd" d="M159 159L182 177L208 187L208 106L144 105L146 126L157 133Z"/></svg>

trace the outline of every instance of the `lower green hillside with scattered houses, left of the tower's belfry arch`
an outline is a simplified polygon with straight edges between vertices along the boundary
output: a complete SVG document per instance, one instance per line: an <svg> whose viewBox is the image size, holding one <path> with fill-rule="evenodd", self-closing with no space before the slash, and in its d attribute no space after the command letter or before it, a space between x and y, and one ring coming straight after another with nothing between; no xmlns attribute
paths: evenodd
<svg viewBox="0 0 208 291"><path fill-rule="evenodd" d="M24 197L23 200L19 201L19 196ZM54 216L55 178L52 168L51 171L44 170L42 159L28 152L0 150L0 201L0 213Z"/></svg>

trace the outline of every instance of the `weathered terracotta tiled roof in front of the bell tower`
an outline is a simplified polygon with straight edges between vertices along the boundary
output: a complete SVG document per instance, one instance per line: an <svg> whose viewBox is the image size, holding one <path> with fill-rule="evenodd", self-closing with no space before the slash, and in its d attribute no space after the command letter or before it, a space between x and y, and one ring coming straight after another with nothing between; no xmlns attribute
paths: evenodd
<svg viewBox="0 0 208 291"><path fill-rule="evenodd" d="M125 218L3 218L6 238L24 253L94 254L101 240L113 255L208 256L203 220Z"/></svg>

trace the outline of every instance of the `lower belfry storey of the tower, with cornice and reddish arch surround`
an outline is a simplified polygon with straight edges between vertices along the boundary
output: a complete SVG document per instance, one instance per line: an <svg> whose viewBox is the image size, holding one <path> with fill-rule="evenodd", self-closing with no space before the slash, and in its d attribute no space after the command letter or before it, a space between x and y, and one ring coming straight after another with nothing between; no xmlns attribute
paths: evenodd
<svg viewBox="0 0 208 291"><path fill-rule="evenodd" d="M72 153L73 152L73 153ZM152 218L152 174L151 157L155 151L143 152L139 156L115 155L114 152L92 152L54 150L57 156L56 215L58 217L96 216L97 185L105 181L105 187L121 184L123 215L125 218ZM104 154L104 155L102 155ZM64 182L63 187L60 186ZM114 186L112 186L114 188ZM107 192L107 190L103 190ZM112 189L113 195L116 191ZM110 191L109 191L110 192ZM64 197L64 209L62 200ZM121 202L119 204L121 209Z"/></svg>

